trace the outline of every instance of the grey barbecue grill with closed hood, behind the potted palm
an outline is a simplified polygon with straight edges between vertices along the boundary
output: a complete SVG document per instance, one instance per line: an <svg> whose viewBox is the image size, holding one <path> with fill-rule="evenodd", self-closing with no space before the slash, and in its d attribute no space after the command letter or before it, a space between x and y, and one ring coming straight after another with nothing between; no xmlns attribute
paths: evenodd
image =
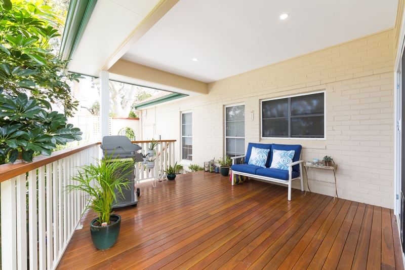
<svg viewBox="0 0 405 270"><path fill-rule="evenodd" d="M135 163L143 161L142 155L137 152L138 150L141 150L142 147L137 144L133 144L126 136L104 136L100 148L103 151L103 159L111 157L112 162L123 159L132 159L134 161L134 167L132 167L131 169L128 169L125 172L117 172L126 175L125 177L129 181L130 188L123 189L124 198L120 196L118 190L114 190L117 201L114 201L114 206L112 208L124 207L129 205L136 206L138 203L138 198L137 196L135 196L134 186ZM140 190L138 188L138 196L139 192Z"/></svg>

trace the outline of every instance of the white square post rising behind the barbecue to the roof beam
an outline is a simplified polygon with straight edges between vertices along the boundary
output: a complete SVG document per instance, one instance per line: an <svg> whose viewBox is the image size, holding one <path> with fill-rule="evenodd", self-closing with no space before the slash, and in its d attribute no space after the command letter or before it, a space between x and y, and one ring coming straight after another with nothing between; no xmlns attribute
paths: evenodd
<svg viewBox="0 0 405 270"><path fill-rule="evenodd" d="M109 135L109 83L108 71L100 71L100 133L101 141Z"/></svg>

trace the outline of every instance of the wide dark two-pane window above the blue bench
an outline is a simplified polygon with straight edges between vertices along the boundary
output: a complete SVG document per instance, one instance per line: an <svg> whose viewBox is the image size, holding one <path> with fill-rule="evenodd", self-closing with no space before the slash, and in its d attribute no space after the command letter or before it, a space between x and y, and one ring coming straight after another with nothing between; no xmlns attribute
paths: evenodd
<svg viewBox="0 0 405 270"><path fill-rule="evenodd" d="M325 92L263 100L262 137L325 138Z"/></svg>

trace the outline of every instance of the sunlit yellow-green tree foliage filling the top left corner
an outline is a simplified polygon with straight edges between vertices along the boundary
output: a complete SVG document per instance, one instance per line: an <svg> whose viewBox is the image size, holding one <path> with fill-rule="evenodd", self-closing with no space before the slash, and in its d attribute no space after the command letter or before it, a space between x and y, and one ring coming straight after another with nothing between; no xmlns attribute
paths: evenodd
<svg viewBox="0 0 405 270"><path fill-rule="evenodd" d="M68 61L60 60L50 46L61 24L43 1L2 0L0 85L7 94L61 102L66 116L72 116L78 102L72 101L66 80L78 81L80 75L67 73Z"/></svg>

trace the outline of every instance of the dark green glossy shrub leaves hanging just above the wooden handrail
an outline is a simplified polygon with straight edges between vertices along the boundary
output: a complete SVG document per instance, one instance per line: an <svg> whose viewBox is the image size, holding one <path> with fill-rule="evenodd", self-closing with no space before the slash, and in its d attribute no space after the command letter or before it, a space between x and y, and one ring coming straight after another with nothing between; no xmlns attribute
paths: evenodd
<svg viewBox="0 0 405 270"><path fill-rule="evenodd" d="M0 89L0 164L18 157L32 162L35 153L50 156L56 144L81 140L82 132L66 124L64 114L51 111L45 100L25 93L3 94Z"/></svg>

